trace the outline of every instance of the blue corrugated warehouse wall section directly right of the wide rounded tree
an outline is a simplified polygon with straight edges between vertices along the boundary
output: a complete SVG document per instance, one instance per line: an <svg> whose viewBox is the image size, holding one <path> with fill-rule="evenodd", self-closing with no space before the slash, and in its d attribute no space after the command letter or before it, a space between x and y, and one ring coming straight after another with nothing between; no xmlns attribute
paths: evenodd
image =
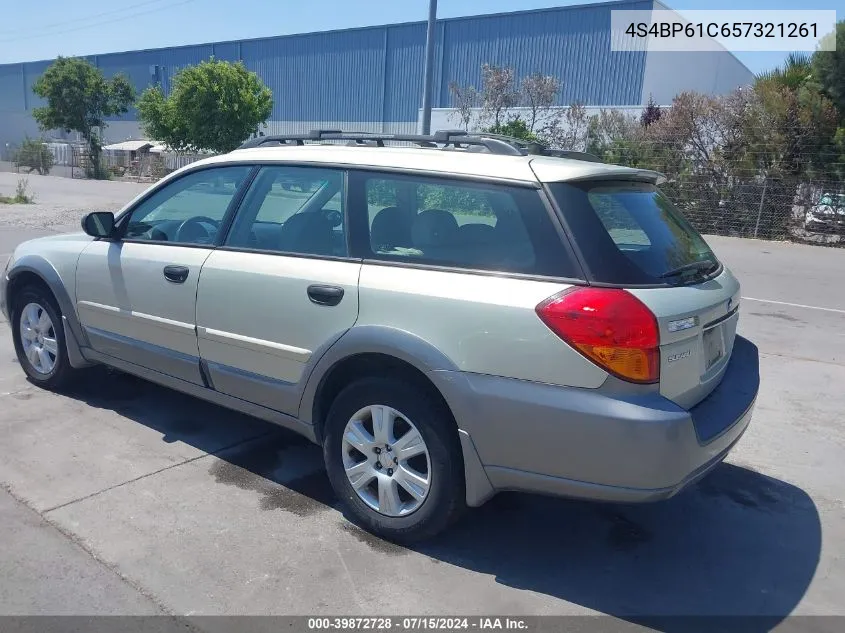
<svg viewBox="0 0 845 633"><path fill-rule="evenodd" d="M247 68L273 89L273 119L378 121L383 28L243 42Z"/></svg>

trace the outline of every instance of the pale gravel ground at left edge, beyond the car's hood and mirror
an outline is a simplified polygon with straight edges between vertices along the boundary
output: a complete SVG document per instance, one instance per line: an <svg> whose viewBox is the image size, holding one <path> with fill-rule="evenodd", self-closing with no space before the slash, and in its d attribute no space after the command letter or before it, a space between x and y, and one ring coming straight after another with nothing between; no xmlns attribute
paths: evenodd
<svg viewBox="0 0 845 633"><path fill-rule="evenodd" d="M20 174L0 173L0 195L14 195ZM76 230L91 211L120 210L149 183L25 176L33 204L0 204L0 226Z"/></svg>

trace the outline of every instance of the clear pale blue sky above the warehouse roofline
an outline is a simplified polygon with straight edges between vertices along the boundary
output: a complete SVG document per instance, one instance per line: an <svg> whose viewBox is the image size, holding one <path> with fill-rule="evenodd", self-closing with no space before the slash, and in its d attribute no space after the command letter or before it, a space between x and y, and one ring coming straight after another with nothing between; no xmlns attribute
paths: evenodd
<svg viewBox="0 0 845 633"><path fill-rule="evenodd" d="M448 18L584 0L439 0ZM835 9L845 0L664 0L673 9ZM0 0L0 63L425 20L428 0ZM72 10L70 10L72 9ZM784 53L737 53L752 71Z"/></svg>

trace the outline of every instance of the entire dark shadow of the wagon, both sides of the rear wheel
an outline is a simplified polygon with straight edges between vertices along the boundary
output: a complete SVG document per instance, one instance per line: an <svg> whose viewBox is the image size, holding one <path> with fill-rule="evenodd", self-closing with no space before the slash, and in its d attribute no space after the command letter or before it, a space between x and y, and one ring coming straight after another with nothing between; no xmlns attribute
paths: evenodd
<svg viewBox="0 0 845 633"><path fill-rule="evenodd" d="M210 476L255 490L262 510L303 516L340 509L319 447L277 426L100 368L67 395L113 409L166 442L214 453ZM503 493L410 548L346 521L341 528L376 555L410 549L670 632L770 630L798 605L821 551L820 519L807 493L732 464L647 505Z"/></svg>

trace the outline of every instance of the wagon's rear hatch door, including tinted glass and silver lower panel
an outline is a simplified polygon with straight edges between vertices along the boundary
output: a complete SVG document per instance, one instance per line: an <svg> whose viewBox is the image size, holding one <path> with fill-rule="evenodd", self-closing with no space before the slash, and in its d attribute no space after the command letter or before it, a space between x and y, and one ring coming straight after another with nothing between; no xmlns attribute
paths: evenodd
<svg viewBox="0 0 845 633"><path fill-rule="evenodd" d="M653 180L596 178L547 186L588 281L625 288L654 313L660 393L692 408L727 368L739 283Z"/></svg>

